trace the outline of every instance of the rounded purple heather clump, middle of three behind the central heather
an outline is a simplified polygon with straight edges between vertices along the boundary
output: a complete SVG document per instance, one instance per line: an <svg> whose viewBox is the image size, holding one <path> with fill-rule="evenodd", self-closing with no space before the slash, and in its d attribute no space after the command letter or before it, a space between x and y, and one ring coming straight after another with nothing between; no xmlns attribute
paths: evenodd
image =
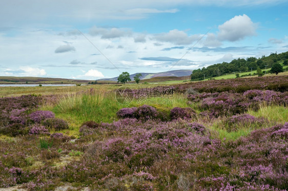
<svg viewBox="0 0 288 191"><path fill-rule="evenodd" d="M135 116L138 120L147 121L157 117L157 110L149 105L142 105L135 111Z"/></svg>

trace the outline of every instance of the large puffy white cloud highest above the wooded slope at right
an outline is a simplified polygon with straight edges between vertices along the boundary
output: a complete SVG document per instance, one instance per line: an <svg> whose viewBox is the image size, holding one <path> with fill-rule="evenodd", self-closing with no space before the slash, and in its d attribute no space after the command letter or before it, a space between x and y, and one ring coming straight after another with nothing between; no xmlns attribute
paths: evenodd
<svg viewBox="0 0 288 191"><path fill-rule="evenodd" d="M246 36L255 36L257 24L249 16L238 15L218 26L219 40L237 41Z"/></svg>

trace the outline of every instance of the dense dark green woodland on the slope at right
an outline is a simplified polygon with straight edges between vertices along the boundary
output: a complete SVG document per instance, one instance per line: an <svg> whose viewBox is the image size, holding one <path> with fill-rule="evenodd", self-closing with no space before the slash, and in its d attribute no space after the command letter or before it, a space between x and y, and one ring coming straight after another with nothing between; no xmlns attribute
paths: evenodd
<svg viewBox="0 0 288 191"><path fill-rule="evenodd" d="M238 58L232 60L230 63L222 62L218 64L213 64L208 67L203 67L202 69L193 70L191 75L192 81L203 80L205 78L214 78L217 76L231 74L231 73L243 73L245 71L250 71L251 68L256 70L258 67L260 69L271 68L275 63L282 63L283 65L288 65L288 52L271 53L269 56L262 56L261 58L250 57L247 59Z"/></svg>

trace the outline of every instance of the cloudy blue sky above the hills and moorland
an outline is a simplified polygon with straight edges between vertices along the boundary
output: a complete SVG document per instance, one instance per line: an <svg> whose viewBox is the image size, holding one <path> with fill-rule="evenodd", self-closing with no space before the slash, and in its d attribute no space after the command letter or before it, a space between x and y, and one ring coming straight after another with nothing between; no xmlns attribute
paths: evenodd
<svg viewBox="0 0 288 191"><path fill-rule="evenodd" d="M97 80L288 50L288 1L0 1L0 76Z"/></svg>

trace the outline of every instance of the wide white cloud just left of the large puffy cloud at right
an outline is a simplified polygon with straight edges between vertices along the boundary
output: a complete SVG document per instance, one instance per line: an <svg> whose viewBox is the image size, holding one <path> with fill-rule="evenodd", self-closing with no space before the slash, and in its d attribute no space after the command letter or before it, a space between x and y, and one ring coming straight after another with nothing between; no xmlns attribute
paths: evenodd
<svg viewBox="0 0 288 191"><path fill-rule="evenodd" d="M199 35L188 36L184 31L177 29L171 30L168 33L160 33L154 36L154 39L160 42L170 42L176 45L191 44L197 40Z"/></svg>

